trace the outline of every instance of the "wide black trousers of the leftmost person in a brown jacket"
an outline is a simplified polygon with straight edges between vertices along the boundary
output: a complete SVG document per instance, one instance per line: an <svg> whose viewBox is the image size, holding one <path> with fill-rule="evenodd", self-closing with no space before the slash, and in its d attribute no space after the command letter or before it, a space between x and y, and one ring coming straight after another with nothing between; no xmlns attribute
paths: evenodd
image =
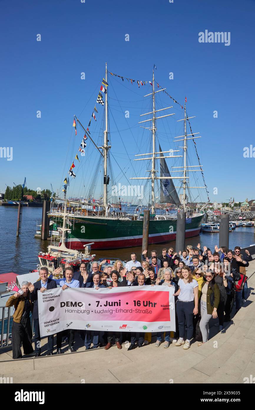
<svg viewBox="0 0 255 410"><path fill-rule="evenodd" d="M12 358L21 359L22 353L20 344L23 344L24 354L27 355L34 351L32 346L32 329L30 318L23 319L20 323L12 322L11 328Z"/></svg>

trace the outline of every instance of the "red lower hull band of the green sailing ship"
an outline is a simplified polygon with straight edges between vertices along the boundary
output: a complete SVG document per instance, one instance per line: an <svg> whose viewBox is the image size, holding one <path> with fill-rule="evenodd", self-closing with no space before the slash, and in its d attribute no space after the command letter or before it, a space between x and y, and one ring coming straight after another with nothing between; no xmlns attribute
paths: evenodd
<svg viewBox="0 0 255 410"><path fill-rule="evenodd" d="M186 230L185 238L190 238L192 236L199 235L201 228ZM174 241L176 239L176 232L167 233L167 234L156 234L149 235L149 245L151 244L160 244L163 242ZM90 243L91 239L71 239L71 249L84 249L83 245ZM118 249L118 248L130 248L133 246L142 245L142 236L137 237L126 237L126 238L111 238L111 239L95 239L95 244L91 245L91 249ZM65 246L70 248L70 239L65 242Z"/></svg>

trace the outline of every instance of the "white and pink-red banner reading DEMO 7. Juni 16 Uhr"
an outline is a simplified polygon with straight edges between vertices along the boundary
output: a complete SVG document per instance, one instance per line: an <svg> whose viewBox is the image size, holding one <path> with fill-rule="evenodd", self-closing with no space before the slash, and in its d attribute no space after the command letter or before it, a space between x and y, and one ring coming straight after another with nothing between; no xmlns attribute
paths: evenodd
<svg viewBox="0 0 255 410"><path fill-rule="evenodd" d="M174 287L61 288L38 292L41 337L65 329L175 331Z"/></svg>

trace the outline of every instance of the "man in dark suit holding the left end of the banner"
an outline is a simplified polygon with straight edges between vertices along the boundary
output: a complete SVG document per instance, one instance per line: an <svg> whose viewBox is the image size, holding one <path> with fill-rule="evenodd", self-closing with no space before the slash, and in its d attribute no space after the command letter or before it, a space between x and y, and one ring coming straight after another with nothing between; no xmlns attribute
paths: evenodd
<svg viewBox="0 0 255 410"><path fill-rule="evenodd" d="M35 357L41 356L41 335L39 328L39 314L38 314L38 292L45 292L48 289L55 289L57 287L56 281L48 278L48 268L41 266L39 270L40 280L32 285L28 283L28 289L30 292L31 301L34 303L33 319L34 319L34 350L36 352ZM48 337L48 351L47 356L53 355L53 338L54 335Z"/></svg>

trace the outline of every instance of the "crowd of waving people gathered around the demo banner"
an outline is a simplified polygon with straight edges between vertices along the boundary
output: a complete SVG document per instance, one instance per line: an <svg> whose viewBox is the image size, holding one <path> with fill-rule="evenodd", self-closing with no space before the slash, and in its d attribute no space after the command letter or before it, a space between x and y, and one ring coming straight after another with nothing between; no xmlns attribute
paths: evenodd
<svg viewBox="0 0 255 410"><path fill-rule="evenodd" d="M162 249L157 255L147 250L141 254L141 262L137 255L131 253L131 260L123 264L116 260L114 265L106 265L106 260L100 264L93 262L91 271L86 271L86 263L81 263L79 271L74 271L69 264L65 265L64 277L54 280L54 276L61 273L62 268L56 267L54 275L49 275L46 266L39 270L39 280L32 284L23 282L23 294L15 293L10 296L6 306L14 306L12 324L13 358L22 358L20 349L23 344L25 355L41 355L41 336L38 319L38 292L54 289L59 285L63 291L72 287L99 288L107 287L109 291L114 287L125 286L168 286L173 287L176 312L176 332L171 337L170 332L156 334L155 346L159 347L164 339L164 348L172 342L175 346L190 348L192 339L202 346L209 339L209 321L218 318L219 330L224 323L229 322L230 313L235 305L235 313L241 308L241 303L248 296L246 267L252 257L248 250L241 255L241 248L235 246L234 251L222 246L214 247L214 251L200 244L196 248L187 246L182 252L174 252L170 247ZM106 266L105 266L106 265ZM102 267L104 266L104 268ZM34 348L32 347L32 329L30 313L34 319ZM104 346L111 348L113 339L117 348L122 348L122 342L129 341L128 350L151 342L148 333L101 332L95 330L79 330L79 337L84 340L86 350ZM186 339L185 339L186 335ZM74 352L75 330L68 329L56 335L56 353L61 354L63 338L68 341L68 350ZM93 344L93 346L91 346ZM54 335L47 341L47 355L54 351Z"/></svg>

